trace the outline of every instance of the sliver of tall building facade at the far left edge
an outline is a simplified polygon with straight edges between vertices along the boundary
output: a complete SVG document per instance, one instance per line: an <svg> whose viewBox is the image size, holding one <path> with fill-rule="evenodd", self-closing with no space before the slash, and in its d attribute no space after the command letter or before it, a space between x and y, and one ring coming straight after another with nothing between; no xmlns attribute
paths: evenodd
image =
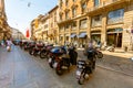
<svg viewBox="0 0 133 88"><path fill-rule="evenodd" d="M0 0L0 40L7 40L9 37L11 37L11 29L7 22L4 0Z"/></svg>

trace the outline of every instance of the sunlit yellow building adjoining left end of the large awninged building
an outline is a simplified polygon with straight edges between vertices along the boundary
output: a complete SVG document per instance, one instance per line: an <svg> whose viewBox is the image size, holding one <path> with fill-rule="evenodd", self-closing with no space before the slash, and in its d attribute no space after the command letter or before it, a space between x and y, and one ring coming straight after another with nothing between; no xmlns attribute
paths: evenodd
<svg viewBox="0 0 133 88"><path fill-rule="evenodd" d="M31 22L31 38L49 43L58 43L58 6L44 15L39 15Z"/></svg>

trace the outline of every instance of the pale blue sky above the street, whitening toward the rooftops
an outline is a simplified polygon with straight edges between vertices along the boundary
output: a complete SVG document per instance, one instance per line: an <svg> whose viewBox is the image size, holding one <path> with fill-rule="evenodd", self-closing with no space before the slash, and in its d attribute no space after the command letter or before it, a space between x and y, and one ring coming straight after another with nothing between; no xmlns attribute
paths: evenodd
<svg viewBox="0 0 133 88"><path fill-rule="evenodd" d="M39 14L45 14L58 4L58 0L4 0L8 24L25 35L30 23Z"/></svg>

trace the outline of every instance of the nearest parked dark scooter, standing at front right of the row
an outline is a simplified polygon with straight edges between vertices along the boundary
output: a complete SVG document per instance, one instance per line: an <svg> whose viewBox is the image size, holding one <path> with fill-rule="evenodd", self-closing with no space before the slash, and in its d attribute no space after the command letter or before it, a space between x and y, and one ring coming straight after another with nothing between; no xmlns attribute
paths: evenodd
<svg viewBox="0 0 133 88"><path fill-rule="evenodd" d="M80 85L84 84L85 79L90 78L90 75L95 69L95 52L93 50L88 51L89 61L78 61L76 79Z"/></svg>

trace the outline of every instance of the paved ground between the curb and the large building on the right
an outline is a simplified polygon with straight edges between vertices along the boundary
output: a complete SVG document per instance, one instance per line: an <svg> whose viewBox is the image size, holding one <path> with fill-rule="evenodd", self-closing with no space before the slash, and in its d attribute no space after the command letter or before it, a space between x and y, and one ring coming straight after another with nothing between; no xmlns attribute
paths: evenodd
<svg viewBox="0 0 133 88"><path fill-rule="evenodd" d="M83 48L78 48L79 58L86 58L83 55ZM115 52L101 51L104 56L96 61L96 66L133 76L133 52L115 50Z"/></svg>

